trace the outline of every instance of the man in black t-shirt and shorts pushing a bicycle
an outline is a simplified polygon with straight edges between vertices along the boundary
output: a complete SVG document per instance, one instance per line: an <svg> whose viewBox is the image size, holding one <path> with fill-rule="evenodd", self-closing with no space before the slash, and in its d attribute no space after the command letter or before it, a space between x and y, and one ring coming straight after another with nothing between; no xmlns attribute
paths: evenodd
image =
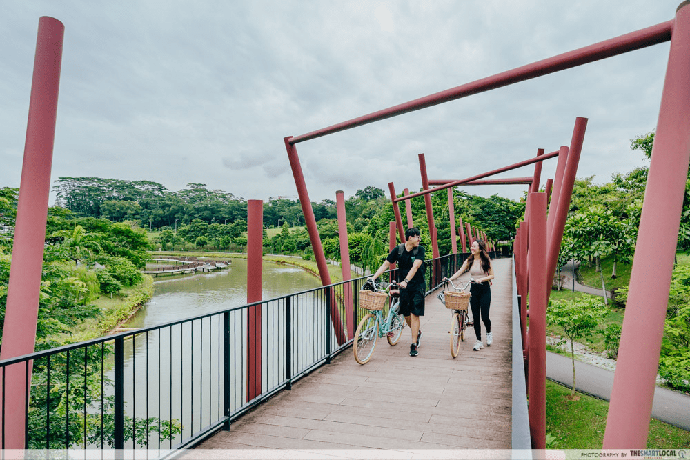
<svg viewBox="0 0 690 460"><path fill-rule="evenodd" d="M424 246L420 246L420 230L408 228L405 232L405 242L393 248L388 257L371 279L377 279L383 272L391 268L391 263L398 264L400 282L400 314L412 330L412 343L410 356L417 356L417 348L420 346L422 331L420 330L420 317L424 316Z"/></svg>

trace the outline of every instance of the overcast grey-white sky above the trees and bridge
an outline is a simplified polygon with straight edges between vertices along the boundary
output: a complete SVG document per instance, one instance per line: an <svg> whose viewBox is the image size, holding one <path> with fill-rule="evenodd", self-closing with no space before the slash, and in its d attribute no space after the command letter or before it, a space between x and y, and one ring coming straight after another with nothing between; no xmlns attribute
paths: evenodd
<svg viewBox="0 0 690 460"><path fill-rule="evenodd" d="M0 186L19 186L39 17L65 25L52 179L297 194L283 138L673 19L680 0L0 3ZM569 145L578 177L644 164L669 43L299 143L311 201L462 179ZM542 185L555 159L544 163ZM530 176L527 166L503 177ZM526 186L462 190L517 199ZM51 198L52 203L52 198Z"/></svg>

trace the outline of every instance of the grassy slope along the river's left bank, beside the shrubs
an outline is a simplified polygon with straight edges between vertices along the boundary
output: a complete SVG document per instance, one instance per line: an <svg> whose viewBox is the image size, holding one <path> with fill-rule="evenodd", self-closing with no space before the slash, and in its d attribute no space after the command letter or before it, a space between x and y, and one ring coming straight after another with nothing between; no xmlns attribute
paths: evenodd
<svg viewBox="0 0 690 460"><path fill-rule="evenodd" d="M112 299L110 296L102 295L94 301L101 310L100 317L83 321L75 328L73 334L59 334L51 339L63 343L77 343L103 337L137 312L152 296L153 278L145 274L141 284L123 288Z"/></svg>

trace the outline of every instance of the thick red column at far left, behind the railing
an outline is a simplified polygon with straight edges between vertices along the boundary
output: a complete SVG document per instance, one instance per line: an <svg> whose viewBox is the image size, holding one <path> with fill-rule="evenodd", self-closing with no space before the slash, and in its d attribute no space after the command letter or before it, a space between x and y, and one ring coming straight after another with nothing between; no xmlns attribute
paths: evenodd
<svg viewBox="0 0 690 460"><path fill-rule="evenodd" d="M64 32L57 19L39 19L0 359L32 353L36 342ZM0 419L4 448L23 449L25 388L30 387L25 366L8 366L0 378L6 385L0 392L5 399L0 401L6 417Z"/></svg>

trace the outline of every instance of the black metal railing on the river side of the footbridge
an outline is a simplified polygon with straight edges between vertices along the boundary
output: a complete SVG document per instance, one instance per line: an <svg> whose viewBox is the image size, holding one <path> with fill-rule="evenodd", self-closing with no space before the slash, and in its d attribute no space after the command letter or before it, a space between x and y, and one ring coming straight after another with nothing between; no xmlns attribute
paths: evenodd
<svg viewBox="0 0 690 460"><path fill-rule="evenodd" d="M427 294L468 255L424 261ZM229 429L351 345L364 279L0 361L1 448L10 423L25 448L61 450L177 449Z"/></svg>

